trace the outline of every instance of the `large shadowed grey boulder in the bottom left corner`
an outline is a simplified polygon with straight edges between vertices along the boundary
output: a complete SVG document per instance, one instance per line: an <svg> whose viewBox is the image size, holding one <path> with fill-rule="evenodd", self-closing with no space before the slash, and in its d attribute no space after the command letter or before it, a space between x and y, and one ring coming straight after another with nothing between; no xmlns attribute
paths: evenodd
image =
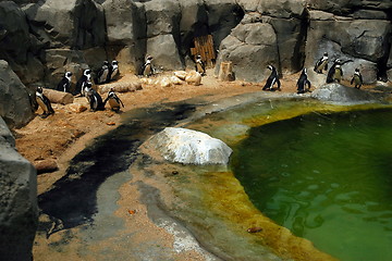
<svg viewBox="0 0 392 261"><path fill-rule="evenodd" d="M0 260L33 260L37 223L36 170L16 152L0 117Z"/></svg>

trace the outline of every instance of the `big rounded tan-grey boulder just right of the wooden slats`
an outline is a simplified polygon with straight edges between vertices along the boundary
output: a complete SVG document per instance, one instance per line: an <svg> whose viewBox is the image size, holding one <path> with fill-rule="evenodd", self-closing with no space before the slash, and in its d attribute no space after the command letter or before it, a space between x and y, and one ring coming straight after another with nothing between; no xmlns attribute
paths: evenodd
<svg viewBox="0 0 392 261"><path fill-rule="evenodd" d="M248 82L264 80L267 65L279 64L277 35L268 23L240 24L220 46L220 62L231 61L235 78Z"/></svg>

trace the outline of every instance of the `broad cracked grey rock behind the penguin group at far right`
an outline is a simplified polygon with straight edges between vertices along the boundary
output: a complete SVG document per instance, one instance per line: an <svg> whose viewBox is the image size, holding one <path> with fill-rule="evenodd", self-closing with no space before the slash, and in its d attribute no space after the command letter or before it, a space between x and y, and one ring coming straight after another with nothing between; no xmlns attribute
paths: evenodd
<svg viewBox="0 0 392 261"><path fill-rule="evenodd" d="M388 60L388 39L392 26L389 21L346 20L320 11L310 12L306 44L305 66L314 66L323 52L333 60L353 60L344 65L345 79L350 79L355 67L363 71L364 82L377 80L378 65ZM382 65L381 65L382 66Z"/></svg>

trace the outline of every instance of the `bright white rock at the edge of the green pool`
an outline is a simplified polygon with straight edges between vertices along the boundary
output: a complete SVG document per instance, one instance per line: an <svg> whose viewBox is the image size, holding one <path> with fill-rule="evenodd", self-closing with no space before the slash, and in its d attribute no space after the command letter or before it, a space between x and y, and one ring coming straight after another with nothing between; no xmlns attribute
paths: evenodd
<svg viewBox="0 0 392 261"><path fill-rule="evenodd" d="M184 164L228 164L233 152L222 140L186 128L167 127L149 142L166 160Z"/></svg>

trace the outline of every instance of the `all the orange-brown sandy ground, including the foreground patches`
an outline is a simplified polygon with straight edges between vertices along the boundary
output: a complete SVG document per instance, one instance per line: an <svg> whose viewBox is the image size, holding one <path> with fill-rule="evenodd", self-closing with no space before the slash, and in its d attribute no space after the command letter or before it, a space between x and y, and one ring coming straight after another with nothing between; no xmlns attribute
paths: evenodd
<svg viewBox="0 0 392 261"><path fill-rule="evenodd" d="M171 73L167 74L171 75ZM162 76L163 75L160 75L159 77ZM282 88L279 94L296 92L295 84L297 78L298 74L283 77L281 79ZM125 74L122 75L118 83L126 84L132 80L137 80L137 77ZM230 83L219 82L210 70L207 72L207 76L203 77L200 86L183 84L160 87L154 84L144 84L143 89L119 94L119 97L125 105L122 111L126 112L136 108L146 108L154 104L181 101L195 97L204 101L216 101L236 95L262 91L262 86L264 83L249 84L238 80ZM102 95L102 97L105 99L106 95ZM87 100L83 97L75 98L74 103L75 102L87 105ZM69 105L52 104L52 107L56 111L54 115L47 119L36 116L27 126L14 130L17 150L33 164L48 159L56 160L58 163L58 171L38 175L38 194L50 189L51 185L64 175L68 162L83 150L88 142L95 137L115 128L122 121L122 113L112 112L108 105L105 111L91 112L86 110L81 113L73 112ZM41 113L40 109L37 113ZM137 187L132 186L131 189L120 191L120 194L122 195L122 199L119 204L122 207L118 211L118 215L126 221L126 227L130 232L135 232L140 229L139 227L143 227L143 235L140 234L140 238L137 238L137 240L143 243L146 238L156 238L155 240L159 241L160 246L168 249L173 248L175 237L162 227L157 227L157 225L148 219L146 206L138 200L139 192L137 191ZM126 202L121 203L121 201L125 200L124 197L126 198ZM133 209L126 209L124 206L132 206ZM137 214L133 213L133 210L137 210ZM130 216L133 219L131 223L128 220ZM59 238L56 238L56 236L51 237L49 240L37 235L34 247L35 260L53 260L54 258L58 260L84 260L79 259L79 256L72 246L69 247L66 251L64 249L61 250L62 252L68 252L68 254L61 254L60 252L56 252L56 248L48 247L53 241L60 240L61 235L58 235L58 237ZM97 245L97 247L102 246ZM126 251L127 246L119 246L119 248L123 248L122 251ZM195 252L194 250L180 253L173 252L173 260L212 260L208 258L208 254ZM115 257L112 258L115 259ZM95 259L93 258L91 260Z"/></svg>

